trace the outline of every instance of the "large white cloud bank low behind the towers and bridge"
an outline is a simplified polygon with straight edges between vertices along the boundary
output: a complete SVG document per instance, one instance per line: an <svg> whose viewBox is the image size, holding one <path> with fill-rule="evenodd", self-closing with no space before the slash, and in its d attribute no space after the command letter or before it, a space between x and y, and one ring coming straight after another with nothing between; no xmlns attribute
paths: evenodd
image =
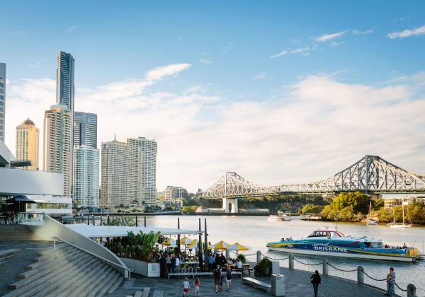
<svg viewBox="0 0 425 297"><path fill-rule="evenodd" d="M380 87L307 76L277 98L232 101L204 86L152 91L158 79L188 69L166 67L76 94L77 110L98 114L99 144L114 134L157 139L158 190L205 188L226 170L263 185L318 180L367 153L423 171L423 73ZM26 117L42 135L55 81L11 81L7 94L6 144L13 151L15 127Z"/></svg>

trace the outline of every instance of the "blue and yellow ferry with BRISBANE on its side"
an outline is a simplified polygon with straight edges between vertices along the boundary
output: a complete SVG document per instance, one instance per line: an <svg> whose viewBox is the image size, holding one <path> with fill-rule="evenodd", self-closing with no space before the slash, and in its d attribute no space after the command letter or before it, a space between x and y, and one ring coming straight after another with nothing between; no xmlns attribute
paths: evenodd
<svg viewBox="0 0 425 297"><path fill-rule="evenodd" d="M337 230L317 230L298 240L282 238L267 243L268 250L302 255L348 257L367 260L416 262L418 250L407 247L390 247L382 240L352 237Z"/></svg>

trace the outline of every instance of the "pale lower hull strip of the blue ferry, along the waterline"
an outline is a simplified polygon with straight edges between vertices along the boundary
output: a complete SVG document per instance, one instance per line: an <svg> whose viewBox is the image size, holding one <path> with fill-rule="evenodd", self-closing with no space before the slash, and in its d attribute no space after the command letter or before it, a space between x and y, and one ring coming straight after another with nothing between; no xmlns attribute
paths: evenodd
<svg viewBox="0 0 425 297"><path fill-rule="evenodd" d="M355 254L349 252L327 252L323 250L310 250L310 249L296 249L296 248L272 248L268 247L268 250L274 252L288 252L298 255L317 255L317 256L329 256L329 257L344 257L344 258L355 258L363 260L382 260L382 261L397 261L397 262L415 262L415 257L398 257L398 256L385 256L385 255L365 255Z"/></svg>

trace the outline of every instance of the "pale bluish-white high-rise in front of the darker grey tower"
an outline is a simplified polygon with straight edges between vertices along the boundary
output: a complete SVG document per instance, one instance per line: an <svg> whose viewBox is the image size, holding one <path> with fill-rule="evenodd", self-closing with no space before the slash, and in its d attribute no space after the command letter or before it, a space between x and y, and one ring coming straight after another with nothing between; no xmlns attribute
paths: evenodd
<svg viewBox="0 0 425 297"><path fill-rule="evenodd" d="M74 200L78 206L99 205L99 150L89 146L74 146Z"/></svg>

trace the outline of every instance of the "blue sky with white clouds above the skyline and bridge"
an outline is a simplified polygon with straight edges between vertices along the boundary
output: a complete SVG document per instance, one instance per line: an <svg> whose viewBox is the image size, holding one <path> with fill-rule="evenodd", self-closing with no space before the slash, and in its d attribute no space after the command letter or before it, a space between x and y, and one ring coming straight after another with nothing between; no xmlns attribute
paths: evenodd
<svg viewBox="0 0 425 297"><path fill-rule="evenodd" d="M6 1L6 145L55 104L75 58L75 110L102 141L158 141L157 189L226 171L311 182L378 155L425 173L424 1ZM41 155L41 153L40 153Z"/></svg>

